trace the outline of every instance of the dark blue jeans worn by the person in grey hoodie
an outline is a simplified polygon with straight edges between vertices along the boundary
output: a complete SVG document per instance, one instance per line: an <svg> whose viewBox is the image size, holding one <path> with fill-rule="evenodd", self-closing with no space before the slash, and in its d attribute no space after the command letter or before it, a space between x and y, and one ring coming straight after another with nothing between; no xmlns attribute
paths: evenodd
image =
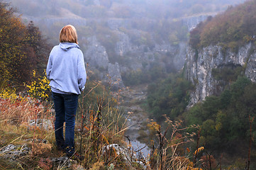
<svg viewBox="0 0 256 170"><path fill-rule="evenodd" d="M77 94L57 94L52 92L55 106L55 139L57 147L64 149L67 156L74 154L74 123L77 113ZM65 127L65 140L63 137L63 125Z"/></svg>

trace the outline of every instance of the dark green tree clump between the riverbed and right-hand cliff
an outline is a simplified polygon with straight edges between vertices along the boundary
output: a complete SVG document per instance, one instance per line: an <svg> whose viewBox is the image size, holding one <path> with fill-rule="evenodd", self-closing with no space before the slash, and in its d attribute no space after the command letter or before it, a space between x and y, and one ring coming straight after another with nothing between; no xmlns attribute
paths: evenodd
<svg viewBox="0 0 256 170"><path fill-rule="evenodd" d="M161 122L162 115L174 120L182 115L189 101L189 92L193 89L191 83L181 75L169 77L148 86L148 106L152 118Z"/></svg>

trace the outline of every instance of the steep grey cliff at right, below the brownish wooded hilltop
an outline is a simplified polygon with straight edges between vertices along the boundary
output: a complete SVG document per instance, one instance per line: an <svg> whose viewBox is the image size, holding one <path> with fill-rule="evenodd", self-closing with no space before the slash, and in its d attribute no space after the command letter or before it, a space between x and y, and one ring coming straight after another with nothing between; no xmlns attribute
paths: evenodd
<svg viewBox="0 0 256 170"><path fill-rule="evenodd" d="M185 71L187 79L195 85L189 106L204 101L206 96L218 95L223 91L226 84L213 77L213 69L243 67L245 76L255 82L256 52L253 48L251 43L240 47L238 52L223 50L219 45L204 47L201 50L189 47Z"/></svg>

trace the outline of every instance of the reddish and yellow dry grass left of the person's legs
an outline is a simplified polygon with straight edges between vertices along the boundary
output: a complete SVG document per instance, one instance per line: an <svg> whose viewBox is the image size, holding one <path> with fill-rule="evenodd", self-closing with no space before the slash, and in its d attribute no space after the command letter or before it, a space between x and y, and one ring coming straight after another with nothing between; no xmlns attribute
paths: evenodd
<svg viewBox="0 0 256 170"><path fill-rule="evenodd" d="M9 145L16 146L16 152L29 148L25 155L1 153L0 169L35 169L39 167L40 158L60 154L52 152L53 129L45 130L29 124L29 120L53 120L50 108L30 98L0 99L0 150Z"/></svg>

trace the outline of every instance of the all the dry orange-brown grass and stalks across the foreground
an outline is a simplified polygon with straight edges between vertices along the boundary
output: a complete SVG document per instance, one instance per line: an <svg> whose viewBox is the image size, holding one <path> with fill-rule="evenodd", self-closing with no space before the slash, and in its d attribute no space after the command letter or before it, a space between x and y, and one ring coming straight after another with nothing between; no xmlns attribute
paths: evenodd
<svg viewBox="0 0 256 170"><path fill-rule="evenodd" d="M92 88L94 89L94 87ZM89 91L90 92L90 91ZM102 154L106 145L119 144L126 146L124 132L126 119L116 108L116 99L109 96L96 98L96 104L84 105L87 94L79 101L75 127L76 153L82 156L81 160L72 162L67 168L67 162L59 165L51 159L63 157L65 153L57 151L55 135L52 128L45 130L43 126L29 125L29 120L51 120L53 123L52 105L40 103L30 98L1 99L0 98L0 151L8 145L20 148L30 148L28 154L19 157L9 157L0 152L0 169L193 169L189 164L189 157L177 154L177 148L184 142L185 136L179 136L178 122L167 120L172 132L167 140L166 132L162 134L157 124L151 128L157 130L157 137L161 141L160 147L152 150L150 158L141 160L144 167L136 162L127 161L115 149L109 149ZM178 134L178 135L177 135ZM44 141L48 142L44 142ZM13 161L14 160L14 161Z"/></svg>

